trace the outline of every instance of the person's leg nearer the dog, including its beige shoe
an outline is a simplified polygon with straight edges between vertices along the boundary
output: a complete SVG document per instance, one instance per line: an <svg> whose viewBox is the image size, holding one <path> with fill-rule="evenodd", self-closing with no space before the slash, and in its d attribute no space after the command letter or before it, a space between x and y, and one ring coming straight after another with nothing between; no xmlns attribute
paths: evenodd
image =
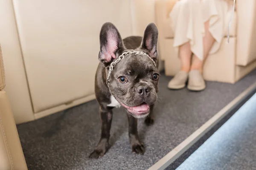
<svg viewBox="0 0 256 170"><path fill-rule="evenodd" d="M188 79L188 72L191 65L191 55L190 43L186 42L179 47L179 57L180 57L180 71L173 77L173 79L168 83L168 88L170 89L181 89L186 86L186 81Z"/></svg>

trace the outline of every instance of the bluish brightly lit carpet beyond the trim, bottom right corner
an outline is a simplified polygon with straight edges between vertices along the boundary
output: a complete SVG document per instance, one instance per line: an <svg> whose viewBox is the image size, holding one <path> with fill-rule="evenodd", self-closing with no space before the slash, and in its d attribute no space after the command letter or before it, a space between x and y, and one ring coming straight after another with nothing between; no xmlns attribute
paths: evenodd
<svg viewBox="0 0 256 170"><path fill-rule="evenodd" d="M256 94L176 170L256 170Z"/></svg>

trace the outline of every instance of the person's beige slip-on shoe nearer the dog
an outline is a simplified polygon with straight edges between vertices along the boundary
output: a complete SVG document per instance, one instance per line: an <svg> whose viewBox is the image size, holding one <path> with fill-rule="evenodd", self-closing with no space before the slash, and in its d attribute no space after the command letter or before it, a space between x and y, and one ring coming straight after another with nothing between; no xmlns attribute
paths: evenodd
<svg viewBox="0 0 256 170"><path fill-rule="evenodd" d="M186 71L179 71L175 77L168 83L169 89L181 89L186 86L189 74Z"/></svg>

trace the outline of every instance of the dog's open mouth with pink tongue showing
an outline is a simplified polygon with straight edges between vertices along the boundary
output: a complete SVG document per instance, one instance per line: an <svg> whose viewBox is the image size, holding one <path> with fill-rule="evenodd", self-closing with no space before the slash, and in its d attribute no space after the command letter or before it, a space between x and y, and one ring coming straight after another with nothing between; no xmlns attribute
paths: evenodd
<svg viewBox="0 0 256 170"><path fill-rule="evenodd" d="M121 103L121 105L124 108L126 108L128 112L133 113L134 115L137 115L137 116L146 116L150 112L150 107L145 102L134 107L126 106L123 103Z"/></svg>

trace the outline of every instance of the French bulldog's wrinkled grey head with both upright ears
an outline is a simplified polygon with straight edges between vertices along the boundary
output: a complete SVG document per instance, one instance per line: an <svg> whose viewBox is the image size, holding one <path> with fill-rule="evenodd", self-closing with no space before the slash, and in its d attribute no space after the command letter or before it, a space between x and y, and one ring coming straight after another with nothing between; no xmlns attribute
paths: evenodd
<svg viewBox="0 0 256 170"><path fill-rule="evenodd" d="M145 117L150 106L157 101L159 71L150 57L157 62L158 31L154 24L149 24L136 51L143 54L128 54L120 60L109 79L109 90L115 99L134 117ZM108 67L125 49L119 32L111 23L102 26L100 34L101 51L99 59Z"/></svg>

